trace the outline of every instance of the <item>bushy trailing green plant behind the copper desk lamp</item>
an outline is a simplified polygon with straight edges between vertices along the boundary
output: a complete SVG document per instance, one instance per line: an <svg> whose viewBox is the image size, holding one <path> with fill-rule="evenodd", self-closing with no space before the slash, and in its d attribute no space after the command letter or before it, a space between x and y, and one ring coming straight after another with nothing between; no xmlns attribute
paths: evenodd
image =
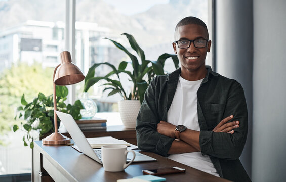
<svg viewBox="0 0 286 182"><path fill-rule="evenodd" d="M69 113L75 120L81 119L80 109L84 109L79 100L75 101L73 105L66 105L64 101L67 99L68 89L66 86L56 85L57 96L57 110L65 113ZM15 119L24 119L20 125L14 125L13 131L17 131L19 128L26 132L23 136L24 146L27 146L27 142L30 142L30 148L33 148L33 135L32 130L39 131L40 136L48 132L54 132L54 105L53 95L45 96L39 93L36 98L30 103L25 100L25 95L22 95L21 106L17 108L17 114ZM60 120L58 118L58 126Z"/></svg>

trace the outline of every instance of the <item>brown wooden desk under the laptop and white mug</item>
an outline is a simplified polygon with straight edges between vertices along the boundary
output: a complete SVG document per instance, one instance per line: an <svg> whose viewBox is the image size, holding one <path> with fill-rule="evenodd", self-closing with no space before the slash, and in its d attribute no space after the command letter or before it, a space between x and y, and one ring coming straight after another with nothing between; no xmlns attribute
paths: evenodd
<svg viewBox="0 0 286 182"><path fill-rule="evenodd" d="M191 168L154 153L147 153L157 161L132 163L122 172L105 172L103 166L70 146L43 145L34 142L33 181L116 181L142 175L143 169L178 166L186 173L162 175L170 181L228 181ZM37 172L36 172L37 171ZM51 179L53 178L53 179Z"/></svg>

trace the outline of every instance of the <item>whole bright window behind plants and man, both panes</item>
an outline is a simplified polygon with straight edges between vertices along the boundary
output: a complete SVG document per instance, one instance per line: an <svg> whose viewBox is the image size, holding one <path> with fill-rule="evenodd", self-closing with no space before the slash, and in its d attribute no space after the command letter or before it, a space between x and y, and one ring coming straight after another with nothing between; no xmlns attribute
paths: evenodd
<svg viewBox="0 0 286 182"><path fill-rule="evenodd" d="M85 75L94 63L118 64L122 59L127 59L124 53L104 37L114 39L131 50L127 39L121 34L132 34L144 50L146 58L156 60L163 53L174 53L174 28L180 19L196 16L208 24L208 0L75 2L75 61ZM14 69L13 66L23 63L30 67L40 64L39 67L49 68L50 74L47 75L52 77L54 68L60 62L60 52L66 50L65 10L65 1L0 0L0 76L6 73L5 70ZM208 60L207 64L210 63ZM165 70L171 72L174 69L169 60ZM102 67L97 69L96 74L103 75L108 71ZM18 75L22 77L27 74L21 73ZM14 114L22 94L25 93L30 102L35 93L52 93L52 81L48 82L42 87L35 86L34 89L37 90L33 93L16 82L14 85L0 85L0 175L30 173L31 149L24 147L23 133L11 132L11 126L15 123ZM75 86L74 99L78 99L83 92L83 84L81 82ZM36 83L32 84L34 85ZM100 83L94 85L90 92L97 104L101 104L100 111L115 112L116 102L121 98L107 97L107 93L102 94L103 87L99 85ZM128 81L126 86L130 86ZM13 90L15 88L19 89ZM7 93L7 90L13 90L13 94Z"/></svg>

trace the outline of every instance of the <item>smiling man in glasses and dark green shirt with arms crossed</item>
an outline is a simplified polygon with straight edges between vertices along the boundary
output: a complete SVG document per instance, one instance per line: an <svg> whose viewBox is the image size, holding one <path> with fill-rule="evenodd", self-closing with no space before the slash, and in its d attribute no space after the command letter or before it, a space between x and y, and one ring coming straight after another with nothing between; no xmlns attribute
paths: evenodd
<svg viewBox="0 0 286 182"><path fill-rule="evenodd" d="M241 85L205 65L211 41L205 23L182 19L173 42L181 68L155 77L137 117L137 144L210 174L250 181L239 161L248 131Z"/></svg>

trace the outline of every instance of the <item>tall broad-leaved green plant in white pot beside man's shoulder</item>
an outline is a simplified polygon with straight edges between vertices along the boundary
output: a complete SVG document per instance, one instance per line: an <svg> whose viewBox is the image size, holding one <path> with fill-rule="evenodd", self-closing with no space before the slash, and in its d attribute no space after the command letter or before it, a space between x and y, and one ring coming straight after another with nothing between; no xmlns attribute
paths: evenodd
<svg viewBox="0 0 286 182"><path fill-rule="evenodd" d="M128 38L131 48L136 51L137 55L141 59L141 64L139 63L137 57L131 54L123 45L109 38L105 38L113 42L118 49L124 51L131 59L131 62L122 61L120 62L118 68L107 62L95 63L92 67L90 67L88 74L86 75L84 92L87 92L89 88L99 80L106 80L107 83L103 85L107 87L103 90L103 92L109 90L110 92L108 96L116 93L121 95L124 101L119 101L118 106L122 122L128 128L135 128L136 117L139 112L140 104L144 100L144 94L150 81L155 75L165 74L164 64L167 58L172 58L176 69L179 68L179 60L177 55L167 53L159 56L156 61L146 60L144 51L139 47L134 37L127 33L123 33L122 35L125 35ZM128 64L131 64L133 71L126 70ZM100 65L107 65L112 68L112 71L105 76L95 76L95 69ZM129 80L132 81L133 88L130 93L127 93L122 86L119 77L120 73L127 74L129 76ZM111 79L110 76L112 75L116 75L116 79ZM122 111L128 113L122 113ZM127 121L126 118L129 119L129 121Z"/></svg>

